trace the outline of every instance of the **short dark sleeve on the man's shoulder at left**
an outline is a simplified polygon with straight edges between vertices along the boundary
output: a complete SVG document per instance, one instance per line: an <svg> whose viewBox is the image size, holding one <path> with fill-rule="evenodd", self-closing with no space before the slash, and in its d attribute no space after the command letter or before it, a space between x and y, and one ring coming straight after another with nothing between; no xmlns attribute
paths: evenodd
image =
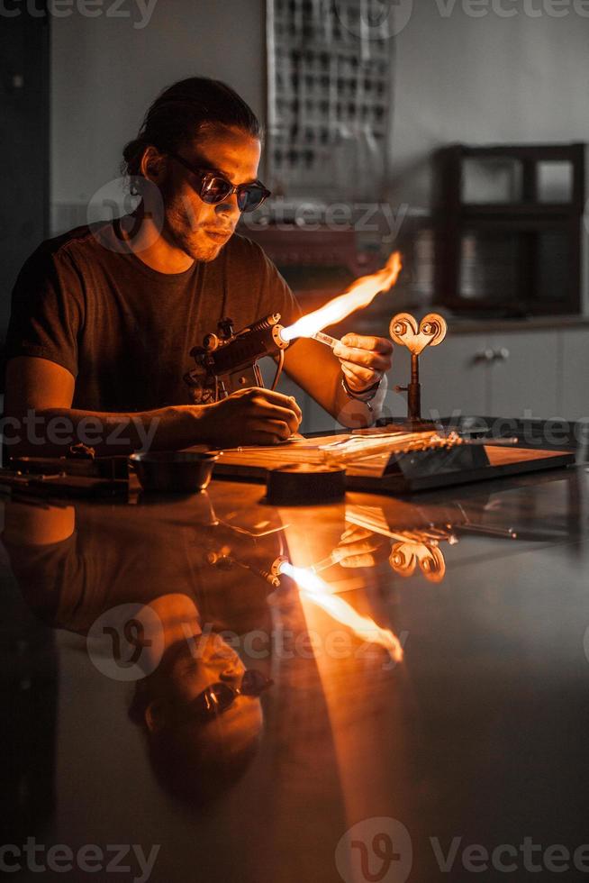
<svg viewBox="0 0 589 883"><path fill-rule="evenodd" d="M5 360L48 359L77 377L77 338L84 317L81 278L68 255L35 251L12 296Z"/></svg>

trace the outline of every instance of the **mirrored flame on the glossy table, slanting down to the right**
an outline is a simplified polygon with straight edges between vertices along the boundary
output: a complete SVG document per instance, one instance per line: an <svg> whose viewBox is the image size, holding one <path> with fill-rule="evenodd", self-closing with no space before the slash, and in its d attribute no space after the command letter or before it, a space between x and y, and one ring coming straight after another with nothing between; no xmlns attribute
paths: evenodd
<svg viewBox="0 0 589 883"><path fill-rule="evenodd" d="M374 619L370 619L369 616L358 614L343 598L332 595L330 587L317 574L308 569L296 568L288 561L280 565L280 572L294 579L301 595L322 607L333 619L348 625L365 641L382 644L395 662L403 659L403 647L394 633L376 625Z"/></svg>

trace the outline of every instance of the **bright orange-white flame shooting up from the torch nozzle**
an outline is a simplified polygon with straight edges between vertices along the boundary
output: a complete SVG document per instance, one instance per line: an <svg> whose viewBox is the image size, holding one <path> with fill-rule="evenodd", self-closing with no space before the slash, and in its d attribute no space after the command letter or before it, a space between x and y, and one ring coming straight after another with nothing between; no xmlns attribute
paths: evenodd
<svg viewBox="0 0 589 883"><path fill-rule="evenodd" d="M383 269L372 276L357 279L343 295L334 297L329 304L284 328L281 337L285 341L294 341L295 337L311 337L322 328L341 322L350 313L370 304L380 291L388 291L396 282L401 266L401 255L394 251Z"/></svg>

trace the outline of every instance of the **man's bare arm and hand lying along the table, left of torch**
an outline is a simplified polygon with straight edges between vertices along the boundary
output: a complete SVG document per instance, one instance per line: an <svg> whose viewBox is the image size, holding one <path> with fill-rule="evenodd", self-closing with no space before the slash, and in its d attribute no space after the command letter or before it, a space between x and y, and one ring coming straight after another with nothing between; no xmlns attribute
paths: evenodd
<svg viewBox="0 0 589 883"><path fill-rule="evenodd" d="M63 456L78 442L101 456L195 444L273 444L295 432L302 417L293 398L261 389L241 390L214 405L129 414L83 411L71 407L75 382L50 360L22 356L8 362L6 456Z"/></svg>

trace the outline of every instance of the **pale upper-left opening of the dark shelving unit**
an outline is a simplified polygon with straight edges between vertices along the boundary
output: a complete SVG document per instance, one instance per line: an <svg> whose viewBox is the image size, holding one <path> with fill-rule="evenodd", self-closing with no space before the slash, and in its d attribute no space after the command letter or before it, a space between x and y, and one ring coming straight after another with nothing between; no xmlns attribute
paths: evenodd
<svg viewBox="0 0 589 883"><path fill-rule="evenodd" d="M522 198L523 166L509 157L465 159L462 164L464 203L515 203Z"/></svg>

